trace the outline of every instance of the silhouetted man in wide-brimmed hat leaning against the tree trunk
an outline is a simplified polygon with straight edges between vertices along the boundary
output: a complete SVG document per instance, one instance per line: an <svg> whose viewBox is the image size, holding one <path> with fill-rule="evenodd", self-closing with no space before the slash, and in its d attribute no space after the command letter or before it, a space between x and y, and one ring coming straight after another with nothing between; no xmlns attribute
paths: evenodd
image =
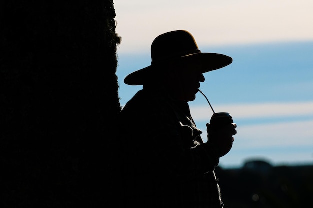
<svg viewBox="0 0 313 208"><path fill-rule="evenodd" d="M120 113L124 207L223 207L214 168L231 149L236 125L207 124L203 143L187 102L204 72L232 58L202 53L184 30L158 36L151 56L150 66L124 80L143 85Z"/></svg>

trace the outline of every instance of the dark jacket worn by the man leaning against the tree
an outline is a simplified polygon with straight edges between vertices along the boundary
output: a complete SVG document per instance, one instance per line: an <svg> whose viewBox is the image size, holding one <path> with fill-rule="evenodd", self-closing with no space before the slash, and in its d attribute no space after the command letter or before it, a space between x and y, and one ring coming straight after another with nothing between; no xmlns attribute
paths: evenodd
<svg viewBox="0 0 313 208"><path fill-rule="evenodd" d="M214 168L187 102L142 89L119 115L124 207L223 207Z"/></svg>

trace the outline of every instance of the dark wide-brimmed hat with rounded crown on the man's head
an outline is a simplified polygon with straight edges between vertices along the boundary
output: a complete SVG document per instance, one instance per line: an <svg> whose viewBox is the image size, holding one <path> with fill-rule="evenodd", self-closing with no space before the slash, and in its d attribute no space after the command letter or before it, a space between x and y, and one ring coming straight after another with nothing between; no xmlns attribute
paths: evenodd
<svg viewBox="0 0 313 208"><path fill-rule="evenodd" d="M175 61L190 61L202 65L202 73L229 65L232 58L218 53L201 52L193 36L185 30L159 35L151 45L151 65L137 70L124 79L129 85L142 85L161 72L162 66Z"/></svg>

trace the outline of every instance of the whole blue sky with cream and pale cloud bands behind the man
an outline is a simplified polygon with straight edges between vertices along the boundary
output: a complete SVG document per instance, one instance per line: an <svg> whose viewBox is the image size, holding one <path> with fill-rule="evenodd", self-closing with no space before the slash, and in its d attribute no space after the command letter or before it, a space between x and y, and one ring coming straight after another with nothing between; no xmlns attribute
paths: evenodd
<svg viewBox="0 0 313 208"><path fill-rule="evenodd" d="M122 106L142 88L123 79L150 65L155 37L184 29L202 52L233 58L204 73L200 87L214 111L231 113L238 126L220 166L240 167L251 159L313 164L313 1L115 0L114 8ZM200 93L189 105L206 141L213 112Z"/></svg>

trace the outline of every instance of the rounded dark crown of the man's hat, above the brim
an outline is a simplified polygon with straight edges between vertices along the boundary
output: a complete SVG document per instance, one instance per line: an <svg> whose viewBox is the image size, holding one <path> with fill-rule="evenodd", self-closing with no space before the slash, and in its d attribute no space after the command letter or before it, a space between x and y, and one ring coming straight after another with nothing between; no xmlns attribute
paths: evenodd
<svg viewBox="0 0 313 208"><path fill-rule="evenodd" d="M188 31L171 31L159 35L152 42L151 64L166 62L200 52L193 36Z"/></svg>

